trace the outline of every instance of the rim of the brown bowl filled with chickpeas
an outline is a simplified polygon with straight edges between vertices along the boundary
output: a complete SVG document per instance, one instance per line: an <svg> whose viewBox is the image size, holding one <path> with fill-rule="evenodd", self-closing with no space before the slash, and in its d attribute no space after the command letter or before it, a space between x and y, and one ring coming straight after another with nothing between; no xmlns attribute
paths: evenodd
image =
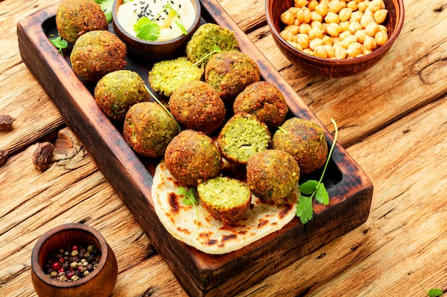
<svg viewBox="0 0 447 297"><path fill-rule="evenodd" d="M396 41L396 38L398 37L398 35L401 33L401 29L403 27L403 21L405 19L405 8L403 6L403 0L396 0L397 4L398 4L398 6L396 7L396 12L398 12L398 14L396 14L396 24L394 25L393 33L391 33L391 36L388 37L388 41L386 41L386 43L383 44L383 46L376 49L372 53L368 53L367 55L364 55L361 57L346 58L346 59L321 58L321 57L312 56L308 53L304 53L303 51L299 51L298 49L291 46L291 44L289 44L286 40L284 40L281 37L281 35L279 35L279 31L276 28L276 26L274 25L274 21L270 14L271 11L269 9L269 7L270 7L269 3L273 2L273 1L275 1L275 0L265 0L266 20L267 20L267 24L270 27L270 30L272 32L273 38L275 38L277 41L279 41L281 43L281 46L283 46L284 49L286 51L288 51L288 53L291 53L291 54L295 53L296 58L303 58L308 61L313 60L316 63L327 63L327 64L336 63L338 65L343 65L343 64L352 65L355 63L363 62L363 61L373 60L373 58L383 55L384 52L388 51L389 48L391 48L394 41ZM394 1L393 1L393 3L394 3Z"/></svg>

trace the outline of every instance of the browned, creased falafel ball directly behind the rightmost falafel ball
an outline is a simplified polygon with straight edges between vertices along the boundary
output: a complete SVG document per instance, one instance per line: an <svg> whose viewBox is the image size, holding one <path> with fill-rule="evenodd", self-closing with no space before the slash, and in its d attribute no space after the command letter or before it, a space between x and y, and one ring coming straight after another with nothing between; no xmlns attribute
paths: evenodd
<svg viewBox="0 0 447 297"><path fill-rule="evenodd" d="M234 113L251 113L271 131L286 120L288 107L283 93L272 83L258 81L248 85L233 103Z"/></svg>

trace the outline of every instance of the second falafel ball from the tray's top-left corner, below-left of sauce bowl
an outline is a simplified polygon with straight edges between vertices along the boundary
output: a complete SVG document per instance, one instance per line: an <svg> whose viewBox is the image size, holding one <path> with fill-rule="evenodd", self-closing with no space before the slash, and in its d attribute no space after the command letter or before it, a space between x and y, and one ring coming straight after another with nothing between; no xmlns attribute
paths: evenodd
<svg viewBox="0 0 447 297"><path fill-rule="evenodd" d="M124 68L126 54L126 44L114 33L89 31L74 43L70 62L80 78L96 82L107 73Z"/></svg>

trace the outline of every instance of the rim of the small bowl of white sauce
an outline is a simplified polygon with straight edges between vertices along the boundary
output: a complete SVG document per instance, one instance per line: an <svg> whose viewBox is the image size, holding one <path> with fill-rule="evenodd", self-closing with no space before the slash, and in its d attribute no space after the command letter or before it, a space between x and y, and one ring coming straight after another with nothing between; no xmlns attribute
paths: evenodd
<svg viewBox="0 0 447 297"><path fill-rule="evenodd" d="M117 29L119 31L120 35L123 35L127 41L125 41L125 43L129 42L129 41L134 41L135 43L140 43L142 46L163 46L163 45L168 45L171 43L176 43L177 41L182 41L184 40L184 38L189 38L189 36L191 35L191 33L193 33L193 31L195 31L196 29L196 25L200 23L200 18L201 18L201 4L200 4L200 0L191 0L195 6L196 6L196 16L194 17L194 21L193 24L191 25L191 27L188 28L187 34L182 34L181 36L178 36L176 38L172 38L166 41L145 41L143 39L137 38L135 36L132 36L130 33L128 33L126 30L124 30L123 26L121 26L121 24L119 24L119 21L117 21L117 17L116 17L116 10L118 9L118 2L123 2L123 0L114 0L114 4L112 6L112 23L114 25L115 30Z"/></svg>

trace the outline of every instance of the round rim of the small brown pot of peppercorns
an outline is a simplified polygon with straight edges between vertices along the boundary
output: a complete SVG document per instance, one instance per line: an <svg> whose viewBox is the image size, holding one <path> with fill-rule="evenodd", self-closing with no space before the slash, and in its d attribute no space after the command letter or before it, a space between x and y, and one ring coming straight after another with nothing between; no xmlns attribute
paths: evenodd
<svg viewBox="0 0 447 297"><path fill-rule="evenodd" d="M98 266L94 271L92 271L88 276L84 278L80 278L77 281L57 281L54 278L49 278L44 269L39 264L39 254L42 246L45 242L50 239L52 236L63 233L71 230L81 230L86 233L92 234L96 240L99 242L99 248L101 249L101 260L99 261ZM56 247L55 247L56 248ZM98 248L98 246L96 246ZM42 283L46 283L48 286L59 287L59 288L72 288L76 286L82 286L84 283L91 281L95 276L97 276L104 266L106 265L106 261L109 259L109 244L107 244L106 239L102 236L99 231L94 229L91 226L81 224L81 223L67 223L56 226L49 231L46 231L39 239L36 241L34 245L32 254L31 254L31 268L33 269L35 275L39 278Z"/></svg>

